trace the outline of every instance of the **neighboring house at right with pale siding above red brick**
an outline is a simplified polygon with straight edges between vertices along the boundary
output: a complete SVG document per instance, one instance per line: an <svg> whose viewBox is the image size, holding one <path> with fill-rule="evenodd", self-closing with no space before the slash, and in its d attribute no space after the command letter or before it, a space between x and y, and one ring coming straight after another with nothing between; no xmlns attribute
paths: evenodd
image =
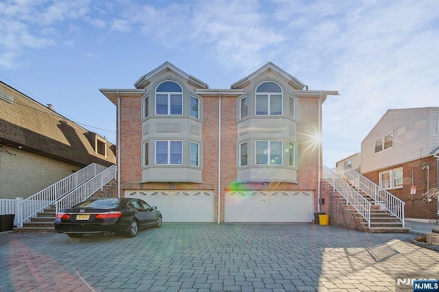
<svg viewBox="0 0 439 292"><path fill-rule="evenodd" d="M361 174L405 202L405 217L436 219L439 108L388 110L361 143ZM427 201L427 202L425 202Z"/></svg>

